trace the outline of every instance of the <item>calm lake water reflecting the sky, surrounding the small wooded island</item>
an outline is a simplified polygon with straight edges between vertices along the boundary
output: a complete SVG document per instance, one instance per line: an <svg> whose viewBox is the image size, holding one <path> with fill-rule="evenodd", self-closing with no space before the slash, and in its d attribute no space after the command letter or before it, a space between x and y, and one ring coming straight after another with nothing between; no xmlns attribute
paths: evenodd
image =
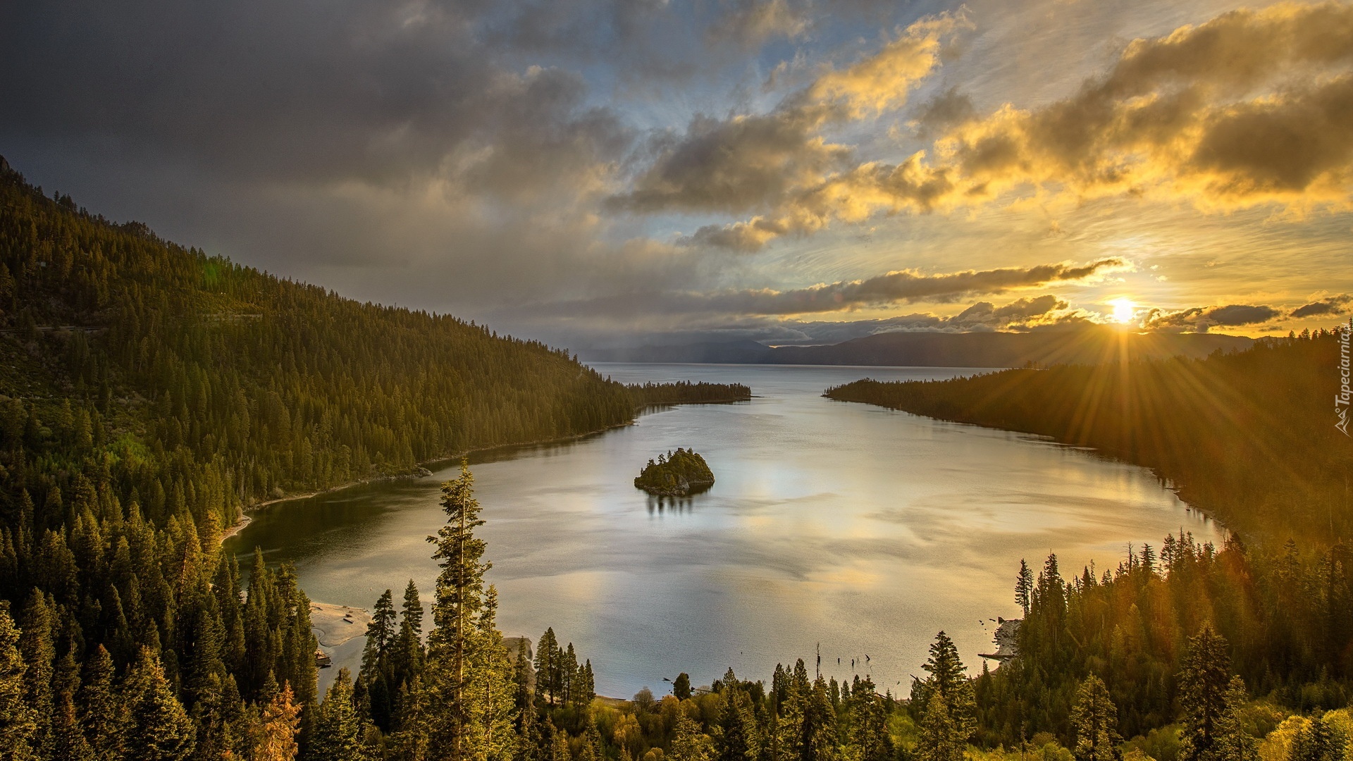
<svg viewBox="0 0 1353 761"><path fill-rule="evenodd" d="M971 370L597 368L626 383L741 382L756 395L472 460L499 627L534 640L552 626L579 659L591 658L602 695L645 685L662 695L663 677L689 672L709 684L729 666L769 678L777 662L800 657L812 669L819 643L825 674L871 673L881 688L905 691L939 630L980 668L988 619L1019 615L1020 558L1039 565L1055 550L1070 574L1092 561L1114 566L1128 542L1158 544L1181 527L1220 536L1143 469L820 395L863 376ZM643 464L675 447L705 456L713 489L678 504L635 489ZM444 517L438 483L453 475L448 467L275 505L231 548L295 562L314 600L369 608L392 588L398 604L413 578L428 604L437 567L425 538ZM356 670L360 650L357 638L336 664Z"/></svg>

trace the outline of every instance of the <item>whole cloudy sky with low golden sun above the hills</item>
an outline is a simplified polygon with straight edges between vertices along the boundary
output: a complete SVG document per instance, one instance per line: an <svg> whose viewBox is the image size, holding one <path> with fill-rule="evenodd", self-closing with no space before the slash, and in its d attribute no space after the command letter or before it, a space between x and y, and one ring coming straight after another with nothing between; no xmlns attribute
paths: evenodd
<svg viewBox="0 0 1353 761"><path fill-rule="evenodd" d="M0 0L0 156L578 349L1353 310L1353 4Z"/></svg>

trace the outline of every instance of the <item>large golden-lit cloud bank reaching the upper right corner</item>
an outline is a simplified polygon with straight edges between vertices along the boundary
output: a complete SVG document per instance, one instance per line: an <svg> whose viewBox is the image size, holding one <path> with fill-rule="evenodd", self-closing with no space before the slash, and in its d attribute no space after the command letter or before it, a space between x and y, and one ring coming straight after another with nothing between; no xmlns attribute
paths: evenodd
<svg viewBox="0 0 1353 761"><path fill-rule="evenodd" d="M1137 39L1065 100L1004 107L939 144L969 194L1020 184L1207 209L1344 204L1353 5L1280 4Z"/></svg>

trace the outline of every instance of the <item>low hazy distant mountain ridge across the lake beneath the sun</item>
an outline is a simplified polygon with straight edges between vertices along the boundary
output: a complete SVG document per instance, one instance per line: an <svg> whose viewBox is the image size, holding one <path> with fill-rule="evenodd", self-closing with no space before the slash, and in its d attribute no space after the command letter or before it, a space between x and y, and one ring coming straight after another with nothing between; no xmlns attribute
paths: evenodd
<svg viewBox="0 0 1353 761"><path fill-rule="evenodd" d="M904 367L1022 367L1115 360L1201 357L1249 348L1254 339L1212 333L1126 333L1109 326L1032 333L879 333L817 347L705 341L674 347L602 349L591 362L714 364L865 364Z"/></svg>

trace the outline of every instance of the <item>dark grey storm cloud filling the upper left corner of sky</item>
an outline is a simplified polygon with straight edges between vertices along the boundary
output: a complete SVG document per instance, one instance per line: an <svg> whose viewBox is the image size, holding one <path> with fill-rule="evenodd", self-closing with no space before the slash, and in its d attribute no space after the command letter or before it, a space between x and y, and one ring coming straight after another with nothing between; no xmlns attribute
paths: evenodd
<svg viewBox="0 0 1353 761"><path fill-rule="evenodd" d="M613 122L579 114L575 74L495 66L471 34L474 3L5 8L7 141L245 180L391 184L475 141L528 161L614 148Z"/></svg>

